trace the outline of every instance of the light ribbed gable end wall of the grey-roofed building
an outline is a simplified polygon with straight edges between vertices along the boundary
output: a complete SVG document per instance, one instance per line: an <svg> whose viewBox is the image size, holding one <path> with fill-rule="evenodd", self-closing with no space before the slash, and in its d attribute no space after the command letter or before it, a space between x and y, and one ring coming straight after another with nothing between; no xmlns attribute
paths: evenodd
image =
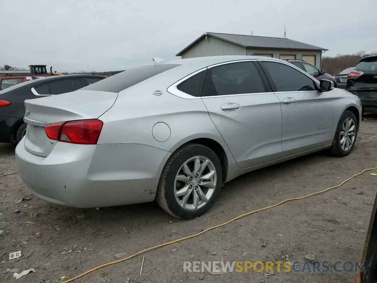
<svg viewBox="0 0 377 283"><path fill-rule="evenodd" d="M207 39L203 38L184 52L181 57L184 59L217 55L246 55L246 48L207 35Z"/></svg>

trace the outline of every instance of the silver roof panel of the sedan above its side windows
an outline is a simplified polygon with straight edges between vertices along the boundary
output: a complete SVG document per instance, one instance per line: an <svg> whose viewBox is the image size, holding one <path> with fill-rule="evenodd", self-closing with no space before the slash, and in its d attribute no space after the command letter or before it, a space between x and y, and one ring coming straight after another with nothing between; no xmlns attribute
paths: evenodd
<svg viewBox="0 0 377 283"><path fill-rule="evenodd" d="M184 65L184 66L195 66L198 69L201 69L207 66L216 65L220 63L226 63L226 62L238 61L238 60L253 60L253 59L254 60L268 59L268 60L273 60L276 62L286 62L284 60L280 60L280 59L272 58L272 57L250 56L250 55L222 55L222 56L207 56L207 57L176 59L176 60L156 63L155 65L176 64L176 65Z"/></svg>

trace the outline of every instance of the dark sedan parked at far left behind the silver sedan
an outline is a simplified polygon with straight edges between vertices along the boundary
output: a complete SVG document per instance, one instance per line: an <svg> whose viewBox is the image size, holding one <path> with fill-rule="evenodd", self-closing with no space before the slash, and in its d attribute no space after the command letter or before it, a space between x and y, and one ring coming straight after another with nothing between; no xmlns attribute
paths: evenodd
<svg viewBox="0 0 377 283"><path fill-rule="evenodd" d="M26 99L76 91L104 78L100 75L59 75L29 80L0 91L0 143L19 142L25 135Z"/></svg>

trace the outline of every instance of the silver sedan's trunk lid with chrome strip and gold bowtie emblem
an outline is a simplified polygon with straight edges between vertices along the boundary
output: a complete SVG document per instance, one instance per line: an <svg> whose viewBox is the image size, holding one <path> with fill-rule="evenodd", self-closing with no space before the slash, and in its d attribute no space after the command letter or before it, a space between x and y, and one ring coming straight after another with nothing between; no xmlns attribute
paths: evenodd
<svg viewBox="0 0 377 283"><path fill-rule="evenodd" d="M118 93L77 90L65 94L25 100L26 135L24 146L27 151L46 157L56 141L50 140L44 126L51 123L95 119L109 110Z"/></svg>

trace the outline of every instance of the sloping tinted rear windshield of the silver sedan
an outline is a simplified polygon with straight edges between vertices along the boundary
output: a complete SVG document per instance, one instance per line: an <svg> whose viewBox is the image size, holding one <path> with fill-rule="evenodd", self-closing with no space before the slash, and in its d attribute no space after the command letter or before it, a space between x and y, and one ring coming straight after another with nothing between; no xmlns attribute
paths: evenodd
<svg viewBox="0 0 377 283"><path fill-rule="evenodd" d="M155 64L141 66L123 71L119 74L112 75L105 78L100 82L93 83L92 85L85 86L82 90L90 91L107 91L107 92L120 92L123 89L143 82L144 80L158 75L167 70L179 66L178 64Z"/></svg>

